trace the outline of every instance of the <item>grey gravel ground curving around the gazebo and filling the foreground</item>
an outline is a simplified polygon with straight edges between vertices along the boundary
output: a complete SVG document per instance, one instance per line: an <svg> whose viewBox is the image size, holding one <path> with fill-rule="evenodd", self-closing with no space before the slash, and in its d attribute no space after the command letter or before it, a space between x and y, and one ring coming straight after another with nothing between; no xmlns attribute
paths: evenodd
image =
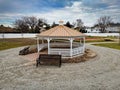
<svg viewBox="0 0 120 90"><path fill-rule="evenodd" d="M86 47L98 56L61 68L25 66L21 48L0 51L0 90L120 90L120 50Z"/></svg>

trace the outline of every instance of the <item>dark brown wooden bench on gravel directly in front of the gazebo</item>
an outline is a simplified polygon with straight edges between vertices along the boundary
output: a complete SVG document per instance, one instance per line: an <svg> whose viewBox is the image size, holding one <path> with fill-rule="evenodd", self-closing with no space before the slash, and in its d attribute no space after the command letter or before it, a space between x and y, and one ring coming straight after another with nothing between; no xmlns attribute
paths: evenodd
<svg viewBox="0 0 120 90"><path fill-rule="evenodd" d="M61 67L61 55L40 54L36 60L36 67L40 64L58 65Z"/></svg>

